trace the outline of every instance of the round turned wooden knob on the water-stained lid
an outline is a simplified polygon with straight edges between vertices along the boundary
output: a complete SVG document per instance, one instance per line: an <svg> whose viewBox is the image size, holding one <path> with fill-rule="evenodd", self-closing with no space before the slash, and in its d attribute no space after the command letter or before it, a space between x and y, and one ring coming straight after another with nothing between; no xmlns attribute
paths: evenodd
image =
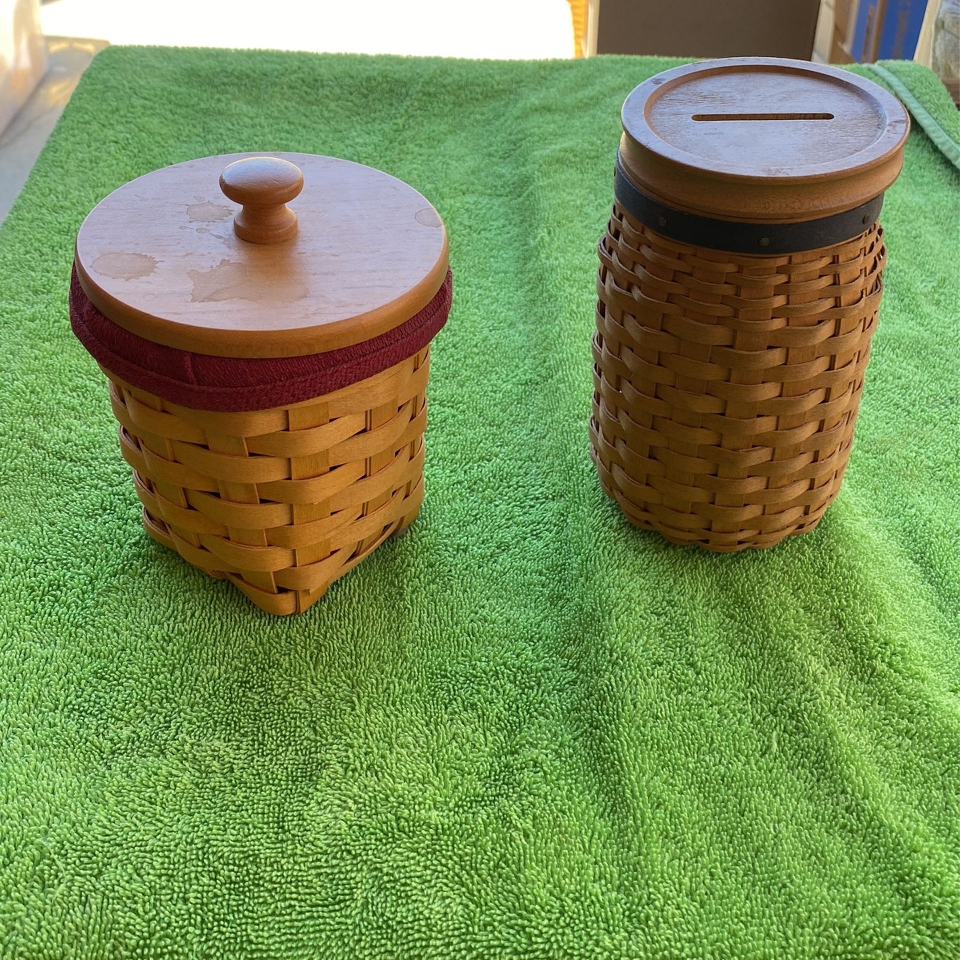
<svg viewBox="0 0 960 960"><path fill-rule="evenodd" d="M300 195L303 174L296 163L276 156L249 156L220 175L220 189L243 209L233 232L249 243L283 243L297 235L297 214L286 204Z"/></svg>

